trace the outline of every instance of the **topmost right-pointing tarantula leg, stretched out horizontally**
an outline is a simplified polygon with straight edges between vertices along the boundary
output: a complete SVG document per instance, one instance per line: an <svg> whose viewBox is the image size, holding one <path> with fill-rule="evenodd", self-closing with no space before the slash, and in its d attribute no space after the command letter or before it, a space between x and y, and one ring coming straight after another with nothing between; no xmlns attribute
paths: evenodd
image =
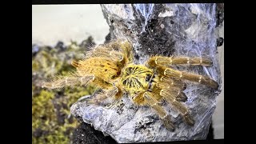
<svg viewBox="0 0 256 144"><path fill-rule="evenodd" d="M171 66L171 65L190 65L190 66L211 66L212 62L206 58L190 58L190 57L162 57L155 56L150 58L148 64L150 66Z"/></svg>

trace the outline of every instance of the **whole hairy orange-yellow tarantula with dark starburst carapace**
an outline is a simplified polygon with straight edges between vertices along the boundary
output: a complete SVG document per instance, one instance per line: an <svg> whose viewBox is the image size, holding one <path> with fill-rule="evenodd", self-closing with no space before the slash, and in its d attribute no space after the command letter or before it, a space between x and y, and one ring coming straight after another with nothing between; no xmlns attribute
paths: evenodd
<svg viewBox="0 0 256 144"><path fill-rule="evenodd" d="M117 100L128 93L135 104L149 106L168 130L174 130L170 115L160 105L165 100L182 114L186 123L193 126L194 119L182 103L187 100L183 93L186 84L182 80L198 82L214 89L218 88L218 83L206 76L174 70L171 66L210 66L212 62L206 58L153 56L145 65L136 65L133 57L132 46L126 40L97 46L86 54L85 59L71 63L77 69L74 73L58 76L43 86L50 89L87 84L96 86L102 91L88 100L94 104L106 98Z"/></svg>

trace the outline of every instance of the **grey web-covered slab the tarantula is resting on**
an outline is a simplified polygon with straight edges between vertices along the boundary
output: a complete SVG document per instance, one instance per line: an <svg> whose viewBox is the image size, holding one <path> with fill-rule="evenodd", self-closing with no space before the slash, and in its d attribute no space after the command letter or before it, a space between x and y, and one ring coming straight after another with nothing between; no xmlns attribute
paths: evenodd
<svg viewBox="0 0 256 144"><path fill-rule="evenodd" d="M126 38L133 42L134 63L143 64L152 54L210 58L214 65L175 66L178 70L207 75L219 83L212 90L186 82L185 105L194 118L194 126L182 121L169 105L176 130L166 130L158 116L146 106L135 106L128 95L108 106L87 105L84 99L71 106L71 113L95 130L110 135L116 142L168 142L206 139L211 117L220 93L221 74L218 64L218 7L216 4L121 4L102 5L110 26L108 38Z"/></svg>

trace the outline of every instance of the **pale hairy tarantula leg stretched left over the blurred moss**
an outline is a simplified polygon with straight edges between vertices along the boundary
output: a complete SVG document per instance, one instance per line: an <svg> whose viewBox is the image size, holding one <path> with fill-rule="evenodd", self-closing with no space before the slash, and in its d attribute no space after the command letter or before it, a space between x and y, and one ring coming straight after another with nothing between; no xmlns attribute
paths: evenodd
<svg viewBox="0 0 256 144"><path fill-rule="evenodd" d="M56 76L51 82L43 82L42 87L59 89L65 86L86 86L90 81L94 81L94 75L86 75L83 77L75 77L75 74L70 75L70 77Z"/></svg>

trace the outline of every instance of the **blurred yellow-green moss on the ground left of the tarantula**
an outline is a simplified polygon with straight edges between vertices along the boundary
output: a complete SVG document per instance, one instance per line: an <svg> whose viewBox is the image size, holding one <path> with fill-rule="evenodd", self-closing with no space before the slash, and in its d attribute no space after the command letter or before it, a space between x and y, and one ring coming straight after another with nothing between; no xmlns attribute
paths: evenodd
<svg viewBox="0 0 256 144"><path fill-rule="evenodd" d="M32 54L32 143L71 142L78 121L70 114L70 106L78 98L91 94L94 88L87 86L43 90L40 83L55 74L67 74L74 70L70 62L83 57L87 41L91 42L91 38L79 46L76 42L71 42L70 46L63 46L58 42L54 48L41 46Z"/></svg>

